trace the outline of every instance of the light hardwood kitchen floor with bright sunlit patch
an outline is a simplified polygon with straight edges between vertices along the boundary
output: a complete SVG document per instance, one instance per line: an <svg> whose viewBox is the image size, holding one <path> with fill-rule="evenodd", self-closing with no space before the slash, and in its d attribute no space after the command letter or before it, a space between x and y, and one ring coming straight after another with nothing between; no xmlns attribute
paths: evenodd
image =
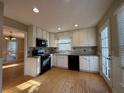
<svg viewBox="0 0 124 93"><path fill-rule="evenodd" d="M98 74L52 68L39 77L20 83L6 93L111 93L111 91Z"/></svg>

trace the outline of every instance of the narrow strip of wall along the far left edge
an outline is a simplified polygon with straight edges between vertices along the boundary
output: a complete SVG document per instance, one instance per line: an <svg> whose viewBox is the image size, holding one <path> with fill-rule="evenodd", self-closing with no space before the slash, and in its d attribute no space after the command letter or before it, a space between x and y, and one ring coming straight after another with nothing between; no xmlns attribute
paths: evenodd
<svg viewBox="0 0 124 93"><path fill-rule="evenodd" d="M2 93L2 26L3 26L3 4L0 2L0 93Z"/></svg>

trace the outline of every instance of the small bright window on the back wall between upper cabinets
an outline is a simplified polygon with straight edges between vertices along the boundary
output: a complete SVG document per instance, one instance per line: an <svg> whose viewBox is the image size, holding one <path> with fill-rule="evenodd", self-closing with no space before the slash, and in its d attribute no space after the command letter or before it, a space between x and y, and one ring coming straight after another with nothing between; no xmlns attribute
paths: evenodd
<svg viewBox="0 0 124 93"><path fill-rule="evenodd" d="M71 39L59 39L58 40L59 51L71 50Z"/></svg>

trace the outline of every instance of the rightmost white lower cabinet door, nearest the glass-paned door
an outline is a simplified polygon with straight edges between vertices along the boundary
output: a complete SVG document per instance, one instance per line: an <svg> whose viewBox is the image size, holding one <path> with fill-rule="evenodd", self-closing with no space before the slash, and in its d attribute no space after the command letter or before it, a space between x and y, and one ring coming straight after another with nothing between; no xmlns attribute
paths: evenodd
<svg viewBox="0 0 124 93"><path fill-rule="evenodd" d="M91 72L99 72L98 57L95 57L95 56L90 57L90 71Z"/></svg>

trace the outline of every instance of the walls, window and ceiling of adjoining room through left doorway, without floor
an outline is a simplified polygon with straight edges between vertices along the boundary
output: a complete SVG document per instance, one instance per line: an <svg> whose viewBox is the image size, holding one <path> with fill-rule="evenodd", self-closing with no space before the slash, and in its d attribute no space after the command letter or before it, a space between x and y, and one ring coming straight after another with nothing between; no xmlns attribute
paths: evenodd
<svg viewBox="0 0 124 93"><path fill-rule="evenodd" d="M3 37L3 64L24 63L24 33L4 27Z"/></svg>

